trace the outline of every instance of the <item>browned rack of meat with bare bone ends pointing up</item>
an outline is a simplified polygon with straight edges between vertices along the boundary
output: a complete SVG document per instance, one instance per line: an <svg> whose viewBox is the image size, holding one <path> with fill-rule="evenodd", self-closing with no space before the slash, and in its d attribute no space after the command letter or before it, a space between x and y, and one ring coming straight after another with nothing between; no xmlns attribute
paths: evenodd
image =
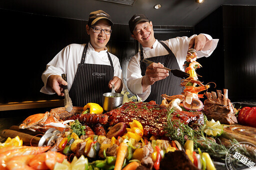
<svg viewBox="0 0 256 170"><path fill-rule="evenodd" d="M223 90L224 95L221 94L221 90L216 92L206 92L207 99L204 100L203 111L208 120L219 120L223 124L237 123L235 116L235 109L227 97L227 89Z"/></svg>

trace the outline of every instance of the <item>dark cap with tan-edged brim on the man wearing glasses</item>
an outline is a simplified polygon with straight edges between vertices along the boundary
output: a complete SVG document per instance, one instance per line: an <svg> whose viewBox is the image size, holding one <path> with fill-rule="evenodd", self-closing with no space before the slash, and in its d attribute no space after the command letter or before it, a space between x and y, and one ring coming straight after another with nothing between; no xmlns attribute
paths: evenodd
<svg viewBox="0 0 256 170"><path fill-rule="evenodd" d="M95 24L99 19L107 19L110 23L110 25L113 25L113 22L111 20L111 17L109 14L107 14L106 12L104 12L103 10L96 10L96 11L92 11L89 14L89 20L88 20L88 25L93 25Z"/></svg>

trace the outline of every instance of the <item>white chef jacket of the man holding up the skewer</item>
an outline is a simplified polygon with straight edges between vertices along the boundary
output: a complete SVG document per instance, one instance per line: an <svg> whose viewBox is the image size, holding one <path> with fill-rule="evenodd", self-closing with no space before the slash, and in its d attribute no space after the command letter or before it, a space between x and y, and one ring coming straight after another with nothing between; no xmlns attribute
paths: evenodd
<svg viewBox="0 0 256 170"><path fill-rule="evenodd" d="M210 54L213 52L213 50L217 46L218 39L212 39L212 37L208 34L203 34L205 35L209 40L212 40L212 46L209 50L200 50L197 51L197 57L202 57L202 56L210 56ZM187 37L187 36L182 36L182 37L175 37L175 38L170 38L165 41L163 41L170 50L173 52L175 55L179 68L181 70L183 69L183 64L186 59L186 52L188 49L188 43L192 37L196 36L196 34ZM159 43L159 41L156 39L155 42L153 43L153 47L142 47L143 50L143 57L144 58L150 58L154 56L160 56L160 55L167 55L168 51ZM140 51L134 55L127 66L127 81L126 85L127 88L133 93L137 94L142 101L144 101L148 95L150 94L151 91L151 86L145 91L142 92L142 75L141 75L141 69L140 69Z"/></svg>

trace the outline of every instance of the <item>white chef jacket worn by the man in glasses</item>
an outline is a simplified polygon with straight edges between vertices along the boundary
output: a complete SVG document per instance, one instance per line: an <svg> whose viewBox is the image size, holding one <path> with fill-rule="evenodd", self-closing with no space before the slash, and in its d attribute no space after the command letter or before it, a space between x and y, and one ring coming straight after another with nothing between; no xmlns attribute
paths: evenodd
<svg viewBox="0 0 256 170"><path fill-rule="evenodd" d="M62 73L66 73L68 83L67 89L68 91L70 90L78 64L81 61L84 46L85 44L72 43L57 53L57 55L46 65L46 70L42 73L41 78L44 86L41 88L40 92L54 94L51 88L46 86L47 78L52 74L61 76ZM104 49L105 50L97 52L91 44L88 43L85 63L111 65L106 52L107 48L105 47ZM109 53L109 55L113 62L114 76L117 76L122 80L122 70L119 59L111 53Z"/></svg>

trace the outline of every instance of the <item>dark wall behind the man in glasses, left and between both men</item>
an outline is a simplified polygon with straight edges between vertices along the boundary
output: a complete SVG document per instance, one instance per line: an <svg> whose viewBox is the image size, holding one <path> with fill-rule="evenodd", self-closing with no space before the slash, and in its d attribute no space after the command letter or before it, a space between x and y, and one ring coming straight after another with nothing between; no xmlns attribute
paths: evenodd
<svg viewBox="0 0 256 170"><path fill-rule="evenodd" d="M63 98L39 92L41 73L66 45L88 42L87 21L4 9L0 16L0 103ZM135 54L135 40L128 25L114 24L112 30L107 48L123 64Z"/></svg>

